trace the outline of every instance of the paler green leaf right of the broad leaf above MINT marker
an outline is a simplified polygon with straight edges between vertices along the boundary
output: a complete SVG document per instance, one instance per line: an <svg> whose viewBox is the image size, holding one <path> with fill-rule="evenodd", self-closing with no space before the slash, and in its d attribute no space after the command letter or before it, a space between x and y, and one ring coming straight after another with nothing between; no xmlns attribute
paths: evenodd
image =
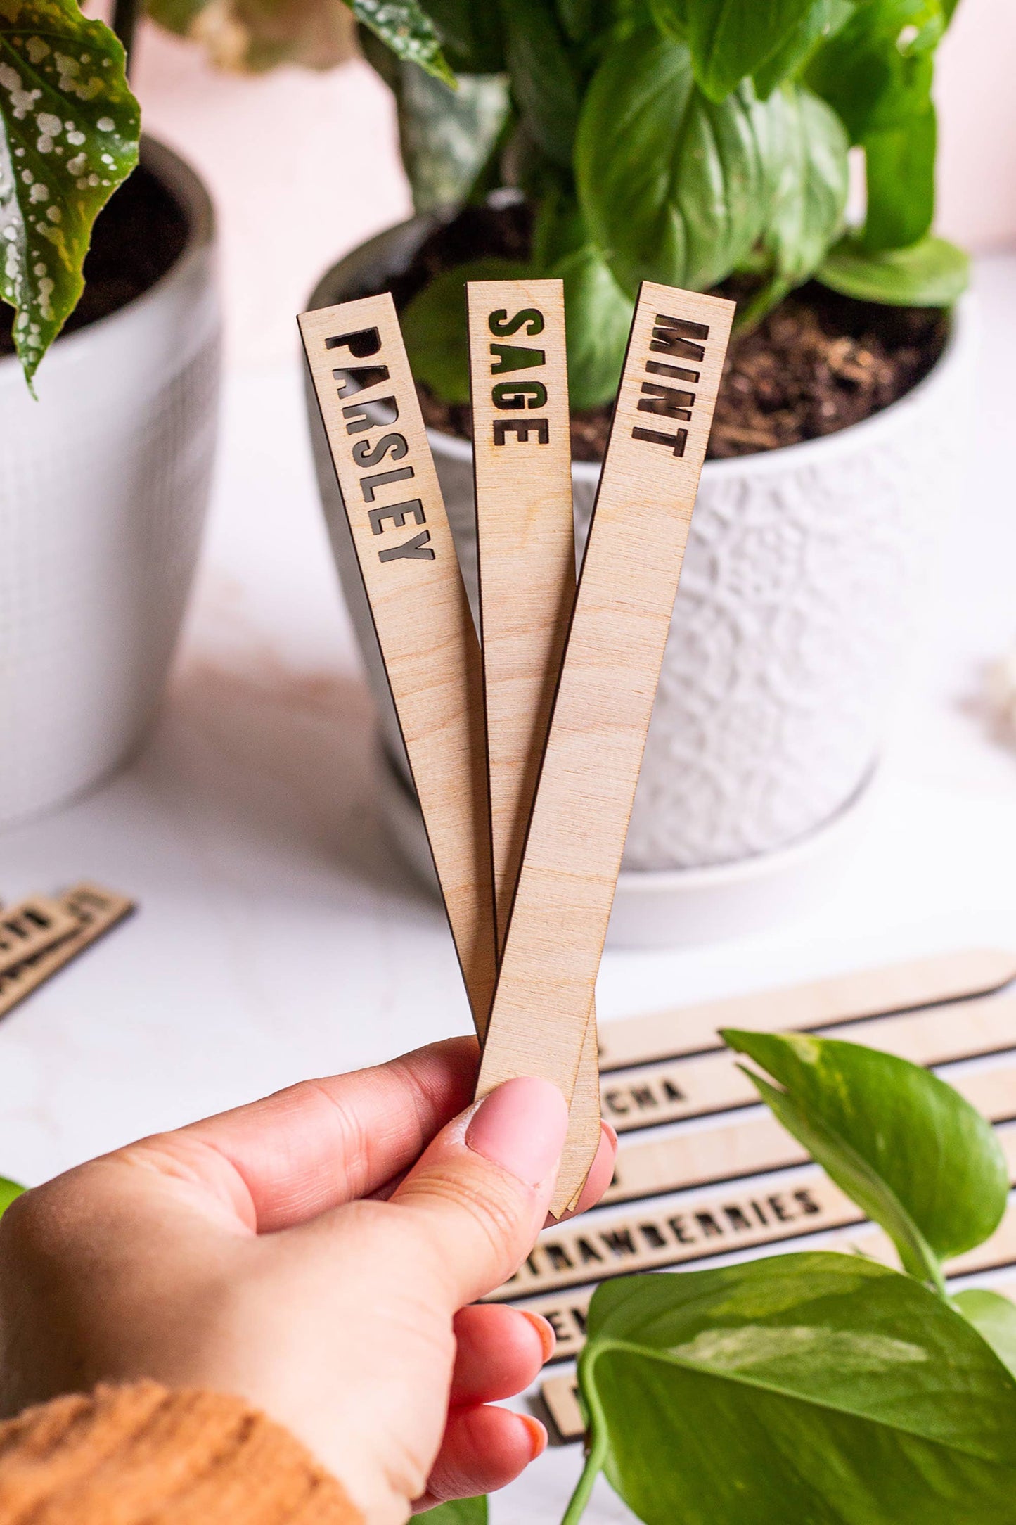
<svg viewBox="0 0 1016 1525"><path fill-rule="evenodd" d="M771 185L762 241L783 293L807 281L842 229L850 145L836 113L803 85L783 85L759 116Z"/></svg>

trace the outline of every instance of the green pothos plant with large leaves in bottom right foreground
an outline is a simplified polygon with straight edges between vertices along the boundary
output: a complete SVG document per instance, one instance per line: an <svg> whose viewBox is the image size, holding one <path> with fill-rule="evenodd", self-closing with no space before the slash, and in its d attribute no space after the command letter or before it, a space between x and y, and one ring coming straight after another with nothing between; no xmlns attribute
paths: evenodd
<svg viewBox="0 0 1016 1525"><path fill-rule="evenodd" d="M586 1462L562 1525L599 1473L647 1525L1011 1525L1016 1305L949 1295L943 1278L1005 1211L993 1130L905 1060L724 1037L902 1272L803 1252L603 1283L579 1360ZM483 1525L486 1501L428 1517Z"/></svg>

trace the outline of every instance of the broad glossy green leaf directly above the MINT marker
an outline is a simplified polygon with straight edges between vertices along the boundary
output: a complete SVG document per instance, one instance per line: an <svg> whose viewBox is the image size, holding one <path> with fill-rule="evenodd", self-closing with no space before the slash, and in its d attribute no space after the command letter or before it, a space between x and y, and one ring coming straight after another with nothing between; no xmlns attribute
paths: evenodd
<svg viewBox="0 0 1016 1525"><path fill-rule="evenodd" d="M695 84L682 43L641 29L586 92L576 140L579 204L629 296L643 279L705 290L745 258L766 218L749 84L719 105Z"/></svg>

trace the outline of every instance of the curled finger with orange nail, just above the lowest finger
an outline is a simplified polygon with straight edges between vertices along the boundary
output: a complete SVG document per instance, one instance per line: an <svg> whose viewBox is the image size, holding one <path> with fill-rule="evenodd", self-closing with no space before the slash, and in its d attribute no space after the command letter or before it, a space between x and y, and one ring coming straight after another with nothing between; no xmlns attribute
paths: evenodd
<svg viewBox="0 0 1016 1525"><path fill-rule="evenodd" d="M554 1351L547 1319L503 1304L474 1302L455 1315L451 1403L497 1403L535 1382Z"/></svg>

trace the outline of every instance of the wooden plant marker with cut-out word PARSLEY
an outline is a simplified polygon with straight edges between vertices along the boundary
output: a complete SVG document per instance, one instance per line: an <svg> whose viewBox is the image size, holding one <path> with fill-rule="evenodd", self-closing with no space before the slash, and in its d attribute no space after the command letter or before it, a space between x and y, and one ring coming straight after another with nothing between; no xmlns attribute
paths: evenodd
<svg viewBox="0 0 1016 1525"><path fill-rule="evenodd" d="M494 891L480 644L391 296L299 319L413 784L483 1039Z"/></svg>

